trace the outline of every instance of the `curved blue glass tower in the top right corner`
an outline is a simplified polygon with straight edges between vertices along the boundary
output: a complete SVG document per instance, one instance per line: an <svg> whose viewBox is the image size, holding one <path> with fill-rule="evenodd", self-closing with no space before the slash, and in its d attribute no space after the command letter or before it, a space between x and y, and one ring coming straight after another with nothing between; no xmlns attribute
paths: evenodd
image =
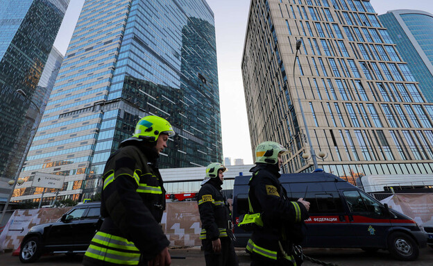
<svg viewBox="0 0 433 266"><path fill-rule="evenodd" d="M433 103L433 15L421 10L391 10L378 17L391 37L388 42L397 44L425 99Z"/></svg>

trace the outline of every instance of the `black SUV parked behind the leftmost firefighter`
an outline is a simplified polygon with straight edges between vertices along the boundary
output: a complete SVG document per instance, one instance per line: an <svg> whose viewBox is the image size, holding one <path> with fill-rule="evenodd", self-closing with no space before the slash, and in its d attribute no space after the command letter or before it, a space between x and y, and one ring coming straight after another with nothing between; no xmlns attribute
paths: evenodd
<svg viewBox="0 0 433 266"><path fill-rule="evenodd" d="M103 222L101 202L71 208L57 222L39 224L28 231L21 243L19 260L33 263L44 253L84 253Z"/></svg>

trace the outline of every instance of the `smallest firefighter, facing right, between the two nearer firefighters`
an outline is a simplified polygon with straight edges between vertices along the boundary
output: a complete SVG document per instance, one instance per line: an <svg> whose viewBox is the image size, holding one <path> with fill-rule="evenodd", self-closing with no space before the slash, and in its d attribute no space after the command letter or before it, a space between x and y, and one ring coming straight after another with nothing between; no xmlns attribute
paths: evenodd
<svg viewBox="0 0 433 266"><path fill-rule="evenodd" d="M233 245L232 219L226 197L221 192L223 172L221 163L206 167L206 176L198 192L198 212L201 219L200 239L205 249L207 266L237 266Z"/></svg>

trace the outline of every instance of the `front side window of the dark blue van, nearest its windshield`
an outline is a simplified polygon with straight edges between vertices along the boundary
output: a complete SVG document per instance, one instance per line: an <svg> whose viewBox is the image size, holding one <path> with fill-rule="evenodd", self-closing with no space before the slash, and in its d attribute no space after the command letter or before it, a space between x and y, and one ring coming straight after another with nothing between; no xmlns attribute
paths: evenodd
<svg viewBox="0 0 433 266"><path fill-rule="evenodd" d="M371 199L364 192L347 190L343 192L344 197L352 213L364 213L368 215L383 216L384 208L379 202Z"/></svg>

